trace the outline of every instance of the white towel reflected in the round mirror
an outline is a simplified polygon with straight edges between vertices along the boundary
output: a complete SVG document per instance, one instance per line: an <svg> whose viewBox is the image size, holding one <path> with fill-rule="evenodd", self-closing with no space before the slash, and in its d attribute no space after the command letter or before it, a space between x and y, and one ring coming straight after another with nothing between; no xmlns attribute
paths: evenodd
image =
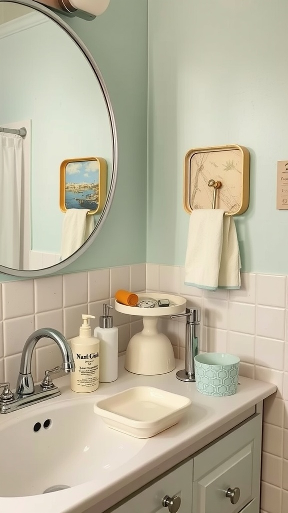
<svg viewBox="0 0 288 513"><path fill-rule="evenodd" d="M95 228L94 215L88 209L69 208L64 215L61 239L61 260L70 257L91 235Z"/></svg>

